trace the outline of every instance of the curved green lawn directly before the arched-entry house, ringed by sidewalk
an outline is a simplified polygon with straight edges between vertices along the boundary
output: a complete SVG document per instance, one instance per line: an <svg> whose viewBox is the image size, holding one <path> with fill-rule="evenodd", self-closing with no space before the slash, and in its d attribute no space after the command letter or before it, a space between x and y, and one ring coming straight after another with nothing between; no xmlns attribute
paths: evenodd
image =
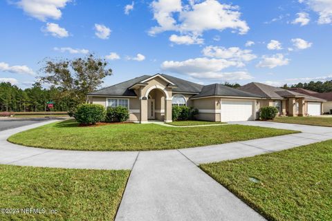
<svg viewBox="0 0 332 221"><path fill-rule="evenodd" d="M257 126L167 127L113 124L80 127L75 120L55 122L17 133L8 141L25 146L82 151L147 151L223 144L297 133Z"/></svg>

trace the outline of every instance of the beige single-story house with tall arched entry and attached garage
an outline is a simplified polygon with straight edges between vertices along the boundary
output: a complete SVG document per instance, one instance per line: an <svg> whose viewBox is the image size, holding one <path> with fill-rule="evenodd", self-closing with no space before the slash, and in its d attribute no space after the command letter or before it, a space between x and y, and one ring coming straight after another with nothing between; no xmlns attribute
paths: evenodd
<svg viewBox="0 0 332 221"><path fill-rule="evenodd" d="M203 86L169 75L144 75L89 93L90 103L125 106L131 122L172 122L172 106L199 109L198 119L213 122L255 120L261 95L221 84Z"/></svg>

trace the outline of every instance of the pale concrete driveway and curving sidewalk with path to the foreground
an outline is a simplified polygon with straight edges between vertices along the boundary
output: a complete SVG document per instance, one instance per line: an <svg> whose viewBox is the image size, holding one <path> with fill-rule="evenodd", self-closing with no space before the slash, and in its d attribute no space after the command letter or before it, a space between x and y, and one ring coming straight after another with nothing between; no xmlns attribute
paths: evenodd
<svg viewBox="0 0 332 221"><path fill-rule="evenodd" d="M53 122L53 121L52 121ZM11 144L7 138L49 122L0 132L0 164L77 169L131 169L116 220L265 220L198 164L248 157L332 139L332 128L236 122L299 134L167 151L59 151Z"/></svg>

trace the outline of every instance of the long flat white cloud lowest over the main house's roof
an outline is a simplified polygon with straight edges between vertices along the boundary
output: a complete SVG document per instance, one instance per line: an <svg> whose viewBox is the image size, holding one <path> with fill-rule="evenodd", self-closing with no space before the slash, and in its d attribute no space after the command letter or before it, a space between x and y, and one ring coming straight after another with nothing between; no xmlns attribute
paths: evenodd
<svg viewBox="0 0 332 221"><path fill-rule="evenodd" d="M189 75L196 79L220 79L224 81L252 79L252 76L244 71L222 72L225 68L237 65L237 61L199 57L185 61L164 61L161 69L172 73Z"/></svg>

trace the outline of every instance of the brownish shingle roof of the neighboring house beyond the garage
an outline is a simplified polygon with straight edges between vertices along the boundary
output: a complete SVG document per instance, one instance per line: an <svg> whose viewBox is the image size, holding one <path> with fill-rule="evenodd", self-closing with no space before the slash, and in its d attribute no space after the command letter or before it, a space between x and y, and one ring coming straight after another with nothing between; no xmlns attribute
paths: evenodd
<svg viewBox="0 0 332 221"><path fill-rule="evenodd" d="M285 97L304 97L307 100L311 101L317 101L317 102L323 102L324 100L312 97L309 95L304 95L302 93L297 93L293 90L286 90L283 88L277 88L274 86L270 86L267 84L261 84L258 82L252 82L249 84L246 84L244 86L241 86L239 90L246 91L248 93L255 93L257 95L260 95L265 98L270 99L284 99Z"/></svg>

